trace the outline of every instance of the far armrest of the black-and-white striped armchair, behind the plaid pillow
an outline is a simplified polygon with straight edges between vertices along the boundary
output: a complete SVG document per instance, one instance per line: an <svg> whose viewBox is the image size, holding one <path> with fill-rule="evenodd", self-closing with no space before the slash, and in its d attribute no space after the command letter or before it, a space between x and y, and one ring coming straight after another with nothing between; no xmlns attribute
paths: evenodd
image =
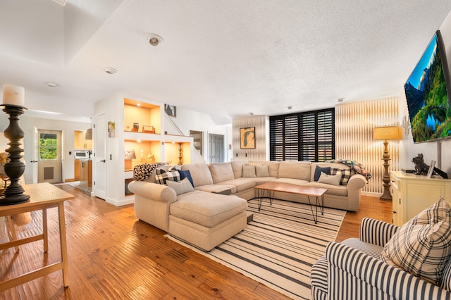
<svg viewBox="0 0 451 300"><path fill-rule="evenodd" d="M362 242L385 246L395 235L399 227L381 220L363 218L360 224L360 240Z"/></svg>

